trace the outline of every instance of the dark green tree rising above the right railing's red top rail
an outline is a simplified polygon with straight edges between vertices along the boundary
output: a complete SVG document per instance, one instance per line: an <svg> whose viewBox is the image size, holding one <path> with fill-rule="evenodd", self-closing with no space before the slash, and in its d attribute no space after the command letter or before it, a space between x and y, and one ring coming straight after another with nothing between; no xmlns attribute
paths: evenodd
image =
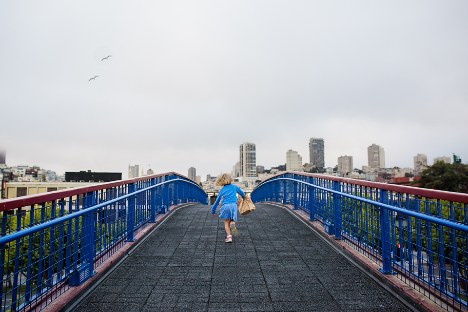
<svg viewBox="0 0 468 312"><path fill-rule="evenodd" d="M429 166L410 185L426 189L468 193L468 165L438 161Z"/></svg>

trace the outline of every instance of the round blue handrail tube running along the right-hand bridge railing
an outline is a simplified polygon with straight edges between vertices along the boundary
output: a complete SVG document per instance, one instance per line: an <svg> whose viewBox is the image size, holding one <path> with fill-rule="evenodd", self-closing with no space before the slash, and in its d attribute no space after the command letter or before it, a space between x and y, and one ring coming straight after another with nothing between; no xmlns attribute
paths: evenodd
<svg viewBox="0 0 468 312"><path fill-rule="evenodd" d="M412 216L412 217L415 217L415 218L419 218L419 219L422 219L422 220L425 220L425 221L429 221L429 222L432 222L432 223L435 223L435 224L440 224L442 226L447 226L449 228L468 233L468 225L452 222L452 221L449 221L449 220L446 220L446 219L434 217L432 215L421 214L421 213L419 213L417 211L411 211L411 210L408 210L408 209L391 206L389 204L381 203L381 202L378 202L378 201L375 201L375 200L372 200L372 199L359 197L359 196L343 193L343 192L340 192L340 191L331 190L331 189L328 189L328 188L325 188L325 187L321 187L321 186L318 186L318 185L313 185L313 184L308 183L308 182L304 182L304 181L300 181L300 180L296 180L296 179L292 179L292 178L288 178L288 177L282 177L282 178L279 178L279 179L280 180L290 180L290 181L295 181L295 182L302 183L302 184L305 184L305 185L309 185L309 186L312 186L314 188L317 188L317 189L320 189L320 190L323 190L323 191L327 191L327 192L337 194L337 195L340 195L340 196L344 196L344 197L348 197L348 198L351 198L351 199L359 200L361 202L365 202L365 203L371 204L373 206L385 208L385 209L388 209L388 210L391 210L391 211L394 211L394 212L397 212L397 213L409 215L409 216ZM278 179L265 181L265 183L274 182L275 180L278 180ZM382 184L384 184L384 183L382 183ZM0 242L1 242L1 240L0 240Z"/></svg>

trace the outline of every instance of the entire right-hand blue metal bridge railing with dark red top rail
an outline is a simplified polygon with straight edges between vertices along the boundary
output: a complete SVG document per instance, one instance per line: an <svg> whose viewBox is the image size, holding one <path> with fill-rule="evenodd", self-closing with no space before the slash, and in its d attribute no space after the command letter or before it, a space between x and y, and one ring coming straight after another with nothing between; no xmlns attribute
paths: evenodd
<svg viewBox="0 0 468 312"><path fill-rule="evenodd" d="M467 311L468 195L286 172L251 197L293 205L382 273L448 311Z"/></svg>

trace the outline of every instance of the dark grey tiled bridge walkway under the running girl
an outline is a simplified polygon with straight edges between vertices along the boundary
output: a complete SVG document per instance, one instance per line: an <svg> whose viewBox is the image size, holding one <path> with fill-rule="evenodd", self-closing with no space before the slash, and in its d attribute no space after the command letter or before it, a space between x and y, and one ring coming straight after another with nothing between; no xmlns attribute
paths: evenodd
<svg viewBox="0 0 468 312"><path fill-rule="evenodd" d="M211 206L178 210L78 311L407 311L287 211L256 207L233 244Z"/></svg>

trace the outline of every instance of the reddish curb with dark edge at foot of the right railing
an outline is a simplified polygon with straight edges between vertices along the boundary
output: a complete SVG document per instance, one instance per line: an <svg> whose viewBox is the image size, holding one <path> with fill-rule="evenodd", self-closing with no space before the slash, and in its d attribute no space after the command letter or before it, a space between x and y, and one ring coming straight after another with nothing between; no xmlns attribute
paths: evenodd
<svg viewBox="0 0 468 312"><path fill-rule="evenodd" d="M325 233L325 230L315 222L309 221L309 218L298 210L293 210L292 205L281 205L276 202L262 202L270 204L288 211L291 215L304 223L313 233L317 234L325 243L327 243L337 253L342 254L353 266L364 273L372 281L380 285L385 291L389 292L406 308L418 312L447 312L447 310L430 301L422 293L414 290L403 283L394 275L380 273L376 263L372 262L365 255L360 254L350 245L340 239L334 239L333 235Z"/></svg>

